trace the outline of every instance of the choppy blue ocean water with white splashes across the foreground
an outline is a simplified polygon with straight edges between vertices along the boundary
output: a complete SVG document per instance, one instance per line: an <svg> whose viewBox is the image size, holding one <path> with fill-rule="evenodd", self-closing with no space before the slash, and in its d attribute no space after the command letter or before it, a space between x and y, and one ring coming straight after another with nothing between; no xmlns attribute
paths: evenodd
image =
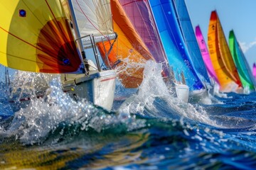
<svg viewBox="0 0 256 170"><path fill-rule="evenodd" d="M256 168L255 92L182 103L149 65L139 89L117 81L111 112L73 101L57 77L14 113L1 84L0 169Z"/></svg>

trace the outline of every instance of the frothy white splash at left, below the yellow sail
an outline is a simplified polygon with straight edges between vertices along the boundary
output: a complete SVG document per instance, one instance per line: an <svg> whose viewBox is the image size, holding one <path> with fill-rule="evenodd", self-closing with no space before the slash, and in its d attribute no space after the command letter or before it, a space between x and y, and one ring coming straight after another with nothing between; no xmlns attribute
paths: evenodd
<svg viewBox="0 0 256 170"><path fill-rule="evenodd" d="M33 145L44 142L49 135L60 129L54 142L63 138L65 130L71 129L68 133L75 135L87 130L102 132L120 125L127 131L134 130L144 127L144 120L135 120L129 114L109 113L84 98L74 101L63 92L60 77L54 77L48 84L45 96L31 98L26 108L14 114L8 127L0 128L0 133L6 137L15 136L16 140Z"/></svg>

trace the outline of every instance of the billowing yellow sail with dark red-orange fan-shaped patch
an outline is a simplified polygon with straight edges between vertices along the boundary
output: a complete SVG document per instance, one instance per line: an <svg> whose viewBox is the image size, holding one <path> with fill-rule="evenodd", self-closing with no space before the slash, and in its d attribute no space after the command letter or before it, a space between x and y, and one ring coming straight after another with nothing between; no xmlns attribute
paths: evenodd
<svg viewBox="0 0 256 170"><path fill-rule="evenodd" d="M80 55L59 0L0 2L0 63L29 72L78 72Z"/></svg>

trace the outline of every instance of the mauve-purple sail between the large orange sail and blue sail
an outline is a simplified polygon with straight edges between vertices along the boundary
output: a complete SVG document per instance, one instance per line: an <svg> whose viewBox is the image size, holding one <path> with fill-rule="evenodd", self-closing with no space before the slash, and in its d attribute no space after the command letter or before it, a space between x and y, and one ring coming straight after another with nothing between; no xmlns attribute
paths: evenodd
<svg viewBox="0 0 256 170"><path fill-rule="evenodd" d="M154 22L154 16L148 1L119 0L124 11L129 16L134 28L136 28L146 47L153 55L156 62L163 64L164 76L169 76L169 65L164 47L160 40L159 32Z"/></svg>

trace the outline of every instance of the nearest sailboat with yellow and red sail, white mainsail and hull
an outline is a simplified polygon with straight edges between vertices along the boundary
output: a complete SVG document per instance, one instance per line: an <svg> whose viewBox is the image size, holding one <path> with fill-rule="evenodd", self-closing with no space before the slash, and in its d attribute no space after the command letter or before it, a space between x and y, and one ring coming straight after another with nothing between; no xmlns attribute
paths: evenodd
<svg viewBox="0 0 256 170"><path fill-rule="evenodd" d="M95 46L98 39L116 37L110 3L14 0L1 2L0 9L5 16L0 21L1 64L26 72L61 74L63 91L75 100L87 98L97 106L112 108L116 73L100 68ZM94 57L85 55L88 47Z"/></svg>

